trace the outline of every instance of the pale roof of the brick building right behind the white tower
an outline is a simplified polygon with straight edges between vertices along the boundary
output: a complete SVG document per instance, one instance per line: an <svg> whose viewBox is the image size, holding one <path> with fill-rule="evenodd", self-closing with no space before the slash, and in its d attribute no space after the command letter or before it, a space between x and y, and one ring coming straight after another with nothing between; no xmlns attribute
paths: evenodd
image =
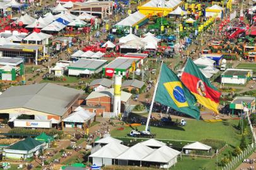
<svg viewBox="0 0 256 170"><path fill-rule="evenodd" d="M113 96L113 88L111 89L104 89L102 91L93 91L91 92L91 94L89 94L89 96L87 96L87 99L94 99L94 98L101 98L107 96L109 98L112 98ZM121 92L121 101L127 102L129 100L129 98L131 98L132 94L131 93L127 93L125 91Z"/></svg>

